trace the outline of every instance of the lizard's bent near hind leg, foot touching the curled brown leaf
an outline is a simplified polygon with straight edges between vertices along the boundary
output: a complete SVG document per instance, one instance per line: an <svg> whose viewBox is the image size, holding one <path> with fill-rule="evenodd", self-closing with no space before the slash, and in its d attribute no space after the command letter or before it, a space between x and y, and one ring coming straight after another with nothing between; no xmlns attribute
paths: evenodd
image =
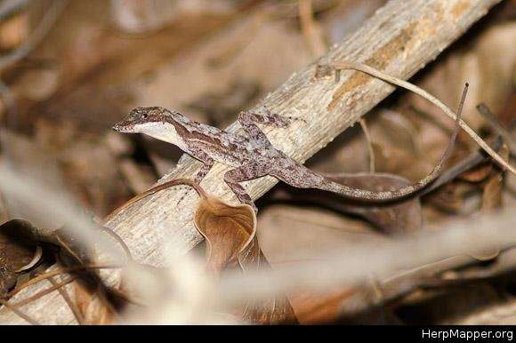
<svg viewBox="0 0 516 343"><path fill-rule="evenodd" d="M258 209L254 205L253 199L247 194L246 188L242 187L238 182L257 179L268 173L269 169L261 164L244 164L237 169L226 172L224 174L224 181L231 188L233 193L237 195L241 203L247 203L257 212Z"/></svg>

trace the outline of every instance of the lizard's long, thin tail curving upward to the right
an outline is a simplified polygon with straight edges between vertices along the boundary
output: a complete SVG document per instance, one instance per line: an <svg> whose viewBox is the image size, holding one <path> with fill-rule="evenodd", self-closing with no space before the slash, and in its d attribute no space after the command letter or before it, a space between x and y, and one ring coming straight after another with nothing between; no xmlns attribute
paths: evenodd
<svg viewBox="0 0 516 343"><path fill-rule="evenodd" d="M441 156L439 163L433 168L433 170L423 179L417 181L416 183L401 187L396 190L391 191L369 191L365 189L359 189L354 187L349 187L346 185L341 185L339 183L336 183L330 179L322 178L319 179L319 183L315 188L327 190L339 195L344 195L346 197L356 199L356 200L362 200L362 201L374 201L374 202L385 202L385 201L392 201L392 200L399 200L402 198L406 198L407 196L413 195L419 190L423 189L427 185L429 185L432 181L437 179L439 176L439 172L442 169L443 164L446 163L447 157L451 154L451 151L454 147L454 144L456 142L456 136L457 132L460 128L460 120L462 115L462 110L464 106L464 100L466 97L466 93L468 91L468 84L465 84L464 86L464 92L461 98L461 102L459 104L459 108L456 115L456 126L454 129L454 132L452 133L452 136L447 144L447 148L444 152L444 154Z"/></svg>

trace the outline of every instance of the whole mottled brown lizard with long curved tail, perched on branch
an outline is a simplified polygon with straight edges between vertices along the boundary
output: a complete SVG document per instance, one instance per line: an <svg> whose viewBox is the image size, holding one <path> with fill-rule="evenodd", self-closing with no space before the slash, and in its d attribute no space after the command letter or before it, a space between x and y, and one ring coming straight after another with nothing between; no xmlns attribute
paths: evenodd
<svg viewBox="0 0 516 343"><path fill-rule="evenodd" d="M253 200L239 182L266 175L271 175L292 187L317 188L358 201L392 202L414 195L439 176L456 140L467 87L468 84L464 87L456 114L456 127L439 163L423 179L409 186L388 191L371 191L336 183L274 148L257 124L286 128L296 118L272 114L265 107L238 114L238 123L246 135L201 124L177 111L162 107L134 108L125 119L115 124L113 129L123 133L143 133L157 140L164 140L198 159L203 166L195 176L196 183L205 178L215 162L229 165L232 169L224 174L225 183L241 203L251 205L254 211L257 209Z"/></svg>

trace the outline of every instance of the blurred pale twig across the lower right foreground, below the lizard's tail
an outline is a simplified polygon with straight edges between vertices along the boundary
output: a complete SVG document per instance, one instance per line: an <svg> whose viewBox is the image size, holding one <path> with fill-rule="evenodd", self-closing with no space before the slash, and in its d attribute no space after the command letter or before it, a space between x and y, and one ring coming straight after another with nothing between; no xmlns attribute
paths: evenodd
<svg viewBox="0 0 516 343"><path fill-rule="evenodd" d="M402 270L424 269L425 265L430 266L438 261L441 267L448 263L450 266L464 266L472 261L467 256L470 251L499 244L503 245L503 249L514 246L516 234L513 224L512 210L505 209L474 219L456 221L439 231L399 237L396 241L361 243L346 249L335 246L335 250L326 256L317 255L324 262L307 262L298 267L277 266L266 272L249 271L245 278L237 273L229 273L222 279L222 288L218 294L232 302L243 299L249 301L300 289L323 290L335 287L336 284L341 287L353 286L371 274L389 279L390 275L399 275ZM486 227L492 230L486 230ZM454 259L449 259L452 257ZM452 263L456 259L460 263ZM443 271L446 269L443 268ZM311 276L313 273L317 273L318 277L314 279Z"/></svg>

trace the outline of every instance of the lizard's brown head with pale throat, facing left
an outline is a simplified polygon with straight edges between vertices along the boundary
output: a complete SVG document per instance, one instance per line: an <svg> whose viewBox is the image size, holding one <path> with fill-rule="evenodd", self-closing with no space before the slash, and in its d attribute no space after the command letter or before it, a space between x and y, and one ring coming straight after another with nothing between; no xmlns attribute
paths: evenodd
<svg viewBox="0 0 516 343"><path fill-rule="evenodd" d="M152 126L165 121L171 113L166 108L134 108L128 116L113 126L113 130L125 133L146 133Z"/></svg>

